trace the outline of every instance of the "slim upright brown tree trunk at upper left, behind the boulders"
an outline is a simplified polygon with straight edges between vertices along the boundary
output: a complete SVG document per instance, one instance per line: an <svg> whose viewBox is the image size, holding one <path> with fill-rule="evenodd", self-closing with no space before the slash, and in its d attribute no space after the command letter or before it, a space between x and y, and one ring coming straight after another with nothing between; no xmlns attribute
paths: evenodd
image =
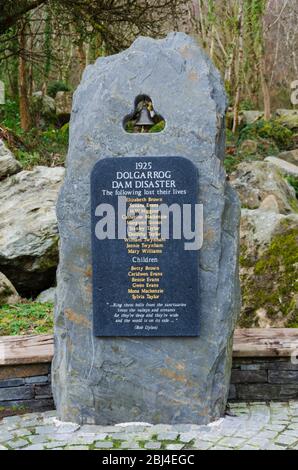
<svg viewBox="0 0 298 470"><path fill-rule="evenodd" d="M21 24L19 32L19 104L20 104L20 118L21 128L23 131L28 131L31 128L31 116L29 111L28 89L27 89L27 70L26 70L26 25Z"/></svg>

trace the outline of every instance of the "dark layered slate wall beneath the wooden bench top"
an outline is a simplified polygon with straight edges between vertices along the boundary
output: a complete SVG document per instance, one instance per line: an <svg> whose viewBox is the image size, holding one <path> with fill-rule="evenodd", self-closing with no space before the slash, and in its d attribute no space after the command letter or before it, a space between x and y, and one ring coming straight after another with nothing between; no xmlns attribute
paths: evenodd
<svg viewBox="0 0 298 470"><path fill-rule="evenodd" d="M51 364L0 366L0 411L43 411L54 408ZM290 358L234 358L229 401L298 399L298 364Z"/></svg>

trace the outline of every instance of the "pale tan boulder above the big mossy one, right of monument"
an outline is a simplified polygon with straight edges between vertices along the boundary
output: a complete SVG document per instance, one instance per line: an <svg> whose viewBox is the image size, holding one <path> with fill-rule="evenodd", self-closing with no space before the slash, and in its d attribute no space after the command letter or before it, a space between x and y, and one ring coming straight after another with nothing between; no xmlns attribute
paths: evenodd
<svg viewBox="0 0 298 470"><path fill-rule="evenodd" d="M230 182L245 208L257 209L268 196L275 197L281 214L297 207L294 188L270 162L242 162L230 175Z"/></svg>

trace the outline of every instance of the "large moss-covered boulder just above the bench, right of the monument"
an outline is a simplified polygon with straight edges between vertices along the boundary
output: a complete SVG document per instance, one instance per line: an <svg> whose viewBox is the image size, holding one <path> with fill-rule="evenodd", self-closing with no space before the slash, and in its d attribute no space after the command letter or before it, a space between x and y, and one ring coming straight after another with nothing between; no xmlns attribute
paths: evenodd
<svg viewBox="0 0 298 470"><path fill-rule="evenodd" d="M240 233L240 326L297 326L298 215L279 214L273 204L243 209Z"/></svg>

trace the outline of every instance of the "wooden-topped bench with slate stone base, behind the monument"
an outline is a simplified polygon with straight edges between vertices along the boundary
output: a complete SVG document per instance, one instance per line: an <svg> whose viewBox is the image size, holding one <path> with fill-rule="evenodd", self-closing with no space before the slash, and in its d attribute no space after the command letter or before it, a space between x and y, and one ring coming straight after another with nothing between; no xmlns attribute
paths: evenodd
<svg viewBox="0 0 298 470"><path fill-rule="evenodd" d="M0 337L0 407L53 407L52 335ZM298 329L236 330L231 401L298 399Z"/></svg>

